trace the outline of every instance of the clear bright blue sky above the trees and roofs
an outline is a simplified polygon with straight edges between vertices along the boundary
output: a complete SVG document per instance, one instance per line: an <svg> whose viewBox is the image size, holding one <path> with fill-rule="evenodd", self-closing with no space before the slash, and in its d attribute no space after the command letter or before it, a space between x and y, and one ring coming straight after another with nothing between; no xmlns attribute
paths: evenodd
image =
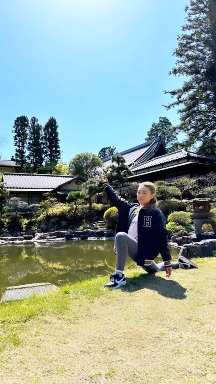
<svg viewBox="0 0 216 384"><path fill-rule="evenodd" d="M55 116L63 161L145 142L183 79L169 76L187 0L0 2L0 149L14 155L13 123Z"/></svg>

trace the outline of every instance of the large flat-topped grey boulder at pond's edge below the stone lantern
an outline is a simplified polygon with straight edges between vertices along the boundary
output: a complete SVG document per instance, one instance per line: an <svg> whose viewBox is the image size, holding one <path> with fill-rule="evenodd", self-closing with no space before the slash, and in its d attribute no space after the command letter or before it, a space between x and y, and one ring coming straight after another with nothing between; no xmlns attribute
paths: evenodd
<svg viewBox="0 0 216 384"><path fill-rule="evenodd" d="M182 255L188 259L193 257L211 257L214 250L216 250L216 240L201 240L198 243L183 245L179 256Z"/></svg>

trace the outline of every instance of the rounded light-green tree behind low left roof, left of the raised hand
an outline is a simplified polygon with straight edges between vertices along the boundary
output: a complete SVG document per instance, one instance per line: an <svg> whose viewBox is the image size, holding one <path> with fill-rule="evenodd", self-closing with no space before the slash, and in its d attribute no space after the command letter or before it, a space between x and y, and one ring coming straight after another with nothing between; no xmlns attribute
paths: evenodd
<svg viewBox="0 0 216 384"><path fill-rule="evenodd" d="M90 152L83 152L70 160L69 172L71 175L81 175L84 179L91 180L95 179L102 164L100 157Z"/></svg>

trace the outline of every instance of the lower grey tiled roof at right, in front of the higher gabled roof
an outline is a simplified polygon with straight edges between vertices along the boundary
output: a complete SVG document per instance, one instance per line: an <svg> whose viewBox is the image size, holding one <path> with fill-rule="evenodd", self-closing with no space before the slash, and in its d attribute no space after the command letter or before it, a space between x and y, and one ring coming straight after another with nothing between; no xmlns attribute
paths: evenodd
<svg viewBox="0 0 216 384"><path fill-rule="evenodd" d="M150 161L142 162L142 164L140 164L140 165L137 164L137 166L136 166L136 164L135 164L135 166L131 167L131 170L134 172L136 170L154 167L154 166L157 166L160 164L165 164L165 163L175 161L178 159L184 159L187 156L198 157L198 158L203 158L203 159L208 159L208 160L214 160L214 157L211 157L211 156L206 156L206 155L198 154L198 153L194 153L194 152L188 152L185 149L179 149L178 151L170 152L168 154L155 157L154 159L151 159Z"/></svg>

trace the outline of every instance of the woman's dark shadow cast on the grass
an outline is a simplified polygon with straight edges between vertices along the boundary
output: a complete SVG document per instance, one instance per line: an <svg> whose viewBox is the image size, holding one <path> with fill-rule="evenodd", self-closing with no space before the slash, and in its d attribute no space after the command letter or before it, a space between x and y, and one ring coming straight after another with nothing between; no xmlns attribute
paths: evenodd
<svg viewBox="0 0 216 384"><path fill-rule="evenodd" d="M125 292L134 292L143 288L158 291L161 296L171 299L186 299L186 289L177 281L166 280L155 274L147 275L145 273L137 277L127 277L127 284L120 289Z"/></svg>

